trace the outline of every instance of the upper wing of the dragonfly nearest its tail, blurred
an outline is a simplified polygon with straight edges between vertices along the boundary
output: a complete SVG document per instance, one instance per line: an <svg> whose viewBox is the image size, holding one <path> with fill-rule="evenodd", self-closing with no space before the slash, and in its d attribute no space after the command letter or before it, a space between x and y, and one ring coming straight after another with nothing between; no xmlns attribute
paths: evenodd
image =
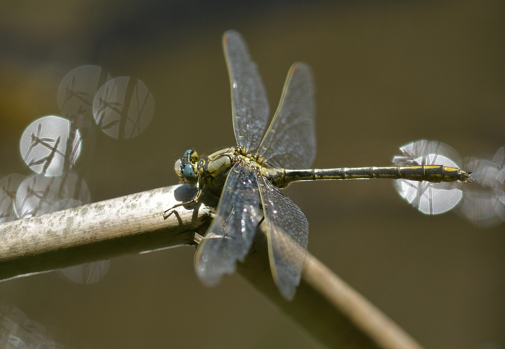
<svg viewBox="0 0 505 349"><path fill-rule="evenodd" d="M316 157L315 114L312 70L305 63L294 63L259 153L273 167L310 167Z"/></svg>

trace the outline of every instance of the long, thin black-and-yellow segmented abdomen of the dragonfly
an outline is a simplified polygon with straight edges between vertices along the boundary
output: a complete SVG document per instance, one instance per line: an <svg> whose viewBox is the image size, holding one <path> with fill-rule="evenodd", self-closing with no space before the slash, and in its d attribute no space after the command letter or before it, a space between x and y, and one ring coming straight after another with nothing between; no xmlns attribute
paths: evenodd
<svg viewBox="0 0 505 349"><path fill-rule="evenodd" d="M264 169L264 174L277 187L285 187L291 182L308 180L344 179L409 179L414 181L471 182L469 174L456 167L443 165L389 166L389 167L340 167L332 169Z"/></svg>

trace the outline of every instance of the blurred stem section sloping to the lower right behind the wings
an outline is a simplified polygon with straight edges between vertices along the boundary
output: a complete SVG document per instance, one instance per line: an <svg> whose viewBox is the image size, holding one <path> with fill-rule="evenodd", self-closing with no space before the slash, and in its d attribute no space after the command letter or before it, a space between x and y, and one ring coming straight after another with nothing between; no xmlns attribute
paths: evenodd
<svg viewBox="0 0 505 349"><path fill-rule="evenodd" d="M237 271L327 347L423 349L311 254L307 255L294 300L286 302L271 276L264 225L258 229L254 246Z"/></svg>

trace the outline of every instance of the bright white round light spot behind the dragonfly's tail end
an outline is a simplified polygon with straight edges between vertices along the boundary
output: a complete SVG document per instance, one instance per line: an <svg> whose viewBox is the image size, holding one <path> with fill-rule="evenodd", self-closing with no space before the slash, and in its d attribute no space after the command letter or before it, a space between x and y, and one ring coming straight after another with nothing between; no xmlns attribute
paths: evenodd
<svg viewBox="0 0 505 349"><path fill-rule="evenodd" d="M458 153L442 142L419 140L402 146L400 151L403 155L393 158L393 163L397 166L444 165L459 168L452 160L459 160ZM463 196L460 183L430 183L398 179L394 184L398 193L406 201L429 215L451 210L458 205Z"/></svg>

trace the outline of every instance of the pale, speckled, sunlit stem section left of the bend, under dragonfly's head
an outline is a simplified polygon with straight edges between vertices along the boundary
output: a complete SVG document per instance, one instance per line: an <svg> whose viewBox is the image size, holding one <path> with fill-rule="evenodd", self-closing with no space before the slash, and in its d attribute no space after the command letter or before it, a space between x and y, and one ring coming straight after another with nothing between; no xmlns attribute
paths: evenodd
<svg viewBox="0 0 505 349"><path fill-rule="evenodd" d="M205 200L187 201L194 188L148 190L0 225L0 280L157 248L194 244L193 232L208 224ZM204 198L205 199L205 198Z"/></svg>

